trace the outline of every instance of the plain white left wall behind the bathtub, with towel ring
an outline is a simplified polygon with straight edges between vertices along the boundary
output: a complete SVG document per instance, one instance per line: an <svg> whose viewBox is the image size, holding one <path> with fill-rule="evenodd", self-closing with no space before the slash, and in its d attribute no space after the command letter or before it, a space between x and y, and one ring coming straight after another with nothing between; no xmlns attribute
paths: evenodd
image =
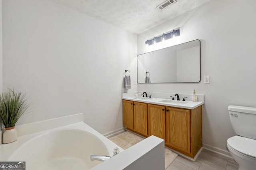
<svg viewBox="0 0 256 170"><path fill-rule="evenodd" d="M3 89L26 93L31 111L17 125L84 113L100 133L122 128L136 35L50 0L3 0L2 17Z"/></svg>

